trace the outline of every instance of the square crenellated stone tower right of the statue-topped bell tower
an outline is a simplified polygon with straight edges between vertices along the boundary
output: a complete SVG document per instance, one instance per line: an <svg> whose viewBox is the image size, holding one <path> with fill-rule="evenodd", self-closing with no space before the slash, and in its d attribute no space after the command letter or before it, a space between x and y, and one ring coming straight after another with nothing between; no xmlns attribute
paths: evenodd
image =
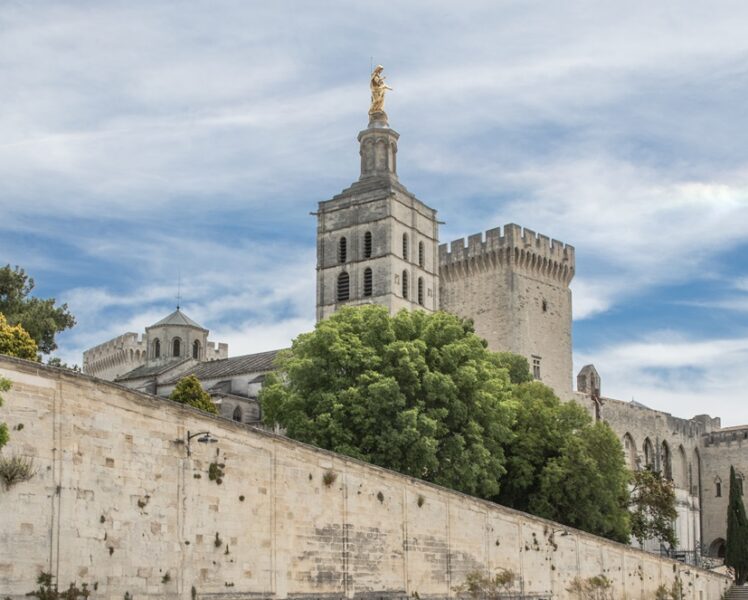
<svg viewBox="0 0 748 600"><path fill-rule="evenodd" d="M574 248L519 225L439 248L440 308L473 319L494 351L525 356L536 379L571 397Z"/></svg>

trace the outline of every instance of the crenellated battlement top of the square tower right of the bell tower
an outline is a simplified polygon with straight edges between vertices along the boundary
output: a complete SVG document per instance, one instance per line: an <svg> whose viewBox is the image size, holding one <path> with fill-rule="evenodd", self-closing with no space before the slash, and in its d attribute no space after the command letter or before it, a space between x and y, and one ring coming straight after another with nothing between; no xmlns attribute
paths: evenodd
<svg viewBox="0 0 748 600"><path fill-rule="evenodd" d="M503 235L502 235L503 233ZM574 277L574 246L564 244L510 223L439 246L439 267L471 266L473 263L511 265L565 283Z"/></svg>

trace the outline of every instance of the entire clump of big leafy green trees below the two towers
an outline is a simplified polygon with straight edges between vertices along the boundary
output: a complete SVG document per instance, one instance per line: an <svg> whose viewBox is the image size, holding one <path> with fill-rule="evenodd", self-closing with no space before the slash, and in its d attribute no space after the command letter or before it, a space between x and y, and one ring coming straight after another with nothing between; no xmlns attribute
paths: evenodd
<svg viewBox="0 0 748 600"><path fill-rule="evenodd" d="M300 335L260 394L303 442L628 542L613 431L447 313L344 308Z"/></svg>

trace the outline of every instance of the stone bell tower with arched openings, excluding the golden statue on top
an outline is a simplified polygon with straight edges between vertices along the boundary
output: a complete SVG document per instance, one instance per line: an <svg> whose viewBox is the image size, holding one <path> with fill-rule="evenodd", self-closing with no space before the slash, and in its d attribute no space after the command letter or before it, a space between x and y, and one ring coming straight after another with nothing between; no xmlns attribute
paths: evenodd
<svg viewBox="0 0 748 600"><path fill-rule="evenodd" d="M397 177L397 140L387 115L358 134L361 176L317 215L317 320L345 305L439 307L436 211Z"/></svg>

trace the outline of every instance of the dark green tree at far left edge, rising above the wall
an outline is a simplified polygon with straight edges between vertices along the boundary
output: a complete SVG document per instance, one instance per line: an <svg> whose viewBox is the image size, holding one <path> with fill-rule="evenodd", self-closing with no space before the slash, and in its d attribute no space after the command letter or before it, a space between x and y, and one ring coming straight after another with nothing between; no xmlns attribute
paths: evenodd
<svg viewBox="0 0 748 600"><path fill-rule="evenodd" d="M11 325L21 325L34 339L39 351L49 354L57 348L55 335L75 325L67 304L55 306L54 298L32 298L34 280L20 267L0 268L0 313Z"/></svg>

